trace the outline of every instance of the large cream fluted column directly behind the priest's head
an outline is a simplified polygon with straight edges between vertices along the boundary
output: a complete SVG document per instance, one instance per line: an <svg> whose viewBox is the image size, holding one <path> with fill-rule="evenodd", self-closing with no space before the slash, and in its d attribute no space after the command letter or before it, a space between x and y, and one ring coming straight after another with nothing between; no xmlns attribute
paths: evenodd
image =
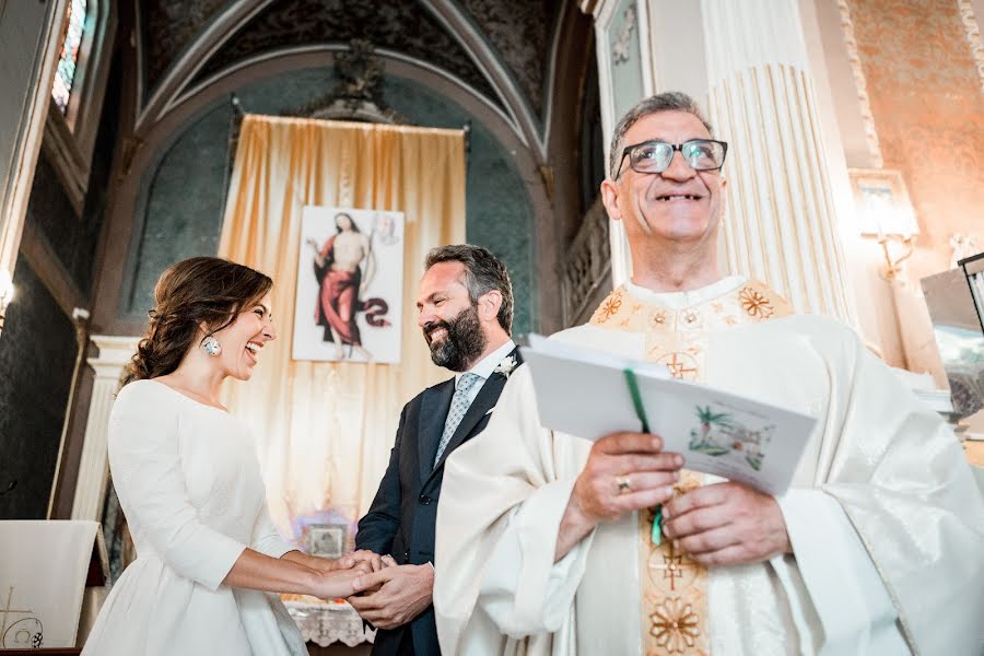
<svg viewBox="0 0 984 656"><path fill-rule="evenodd" d="M856 325L797 0L702 0L707 106L730 143L722 259Z"/></svg>

